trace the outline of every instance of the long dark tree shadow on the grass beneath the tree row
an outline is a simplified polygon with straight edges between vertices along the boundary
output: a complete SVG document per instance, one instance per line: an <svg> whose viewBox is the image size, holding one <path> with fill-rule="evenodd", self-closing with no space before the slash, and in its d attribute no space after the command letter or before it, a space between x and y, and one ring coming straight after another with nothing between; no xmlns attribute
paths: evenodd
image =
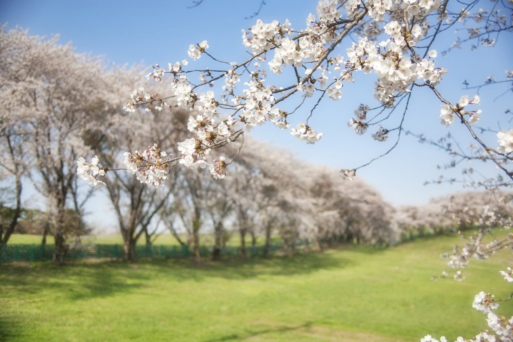
<svg viewBox="0 0 513 342"><path fill-rule="evenodd" d="M378 253L372 248L351 249L357 253ZM304 275L320 270L346 268L355 261L343 258L335 250L270 258L230 257L218 262L204 259L142 259L135 264L117 260L82 260L56 267L50 262L10 263L0 268L1 293L9 296L38 294L45 289L58 290L58 298L83 300L130 293L154 280L208 281L212 278L244 280L266 276Z"/></svg>

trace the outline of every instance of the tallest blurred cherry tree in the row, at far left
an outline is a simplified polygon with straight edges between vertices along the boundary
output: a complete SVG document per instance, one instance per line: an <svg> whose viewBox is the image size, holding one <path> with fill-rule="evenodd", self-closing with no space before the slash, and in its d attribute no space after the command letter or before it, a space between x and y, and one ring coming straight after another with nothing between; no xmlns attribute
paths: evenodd
<svg viewBox="0 0 513 342"><path fill-rule="evenodd" d="M103 61L76 54L69 44L57 45L56 40L2 27L0 105L7 156L2 165L15 179L16 207L25 175L47 200L54 227L54 262L62 264L66 239L76 234L66 224L66 212L73 208L82 215L91 194L77 191L76 160L90 154L83 138L119 104L109 102Z"/></svg>

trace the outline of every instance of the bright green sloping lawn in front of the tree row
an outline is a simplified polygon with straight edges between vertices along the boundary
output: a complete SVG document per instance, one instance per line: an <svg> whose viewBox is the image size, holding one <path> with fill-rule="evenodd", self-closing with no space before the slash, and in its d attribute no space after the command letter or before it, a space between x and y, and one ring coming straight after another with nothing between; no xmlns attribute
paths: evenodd
<svg viewBox="0 0 513 342"><path fill-rule="evenodd" d="M0 340L401 341L471 337L481 290L505 298L503 251L466 279L430 280L456 237L386 250L343 246L292 258L0 264ZM513 314L504 302L500 312Z"/></svg>

